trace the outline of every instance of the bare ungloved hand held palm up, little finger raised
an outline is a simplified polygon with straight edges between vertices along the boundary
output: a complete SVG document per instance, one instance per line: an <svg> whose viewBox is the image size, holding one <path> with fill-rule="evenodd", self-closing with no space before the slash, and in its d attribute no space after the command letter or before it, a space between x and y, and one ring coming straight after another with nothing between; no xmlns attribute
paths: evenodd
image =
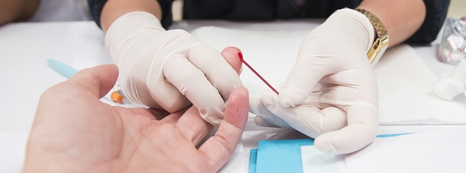
<svg viewBox="0 0 466 173"><path fill-rule="evenodd" d="M24 171L216 172L232 155L244 129L248 93L230 95L215 136L195 107L163 110L113 107L99 100L115 84L117 67L80 71L41 97Z"/></svg>

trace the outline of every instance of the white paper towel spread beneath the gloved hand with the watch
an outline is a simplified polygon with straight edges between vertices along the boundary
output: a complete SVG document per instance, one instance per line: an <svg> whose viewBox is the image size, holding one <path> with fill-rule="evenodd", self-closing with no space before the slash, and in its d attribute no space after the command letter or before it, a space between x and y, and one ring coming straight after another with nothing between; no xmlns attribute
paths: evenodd
<svg viewBox="0 0 466 173"><path fill-rule="evenodd" d="M309 31L246 31L209 26L191 33L219 51L238 47L245 61L279 89ZM431 92L437 79L409 45L388 49L374 72L379 85L380 124L466 124L464 105L442 100ZM240 78L251 96L270 89L245 66Z"/></svg>

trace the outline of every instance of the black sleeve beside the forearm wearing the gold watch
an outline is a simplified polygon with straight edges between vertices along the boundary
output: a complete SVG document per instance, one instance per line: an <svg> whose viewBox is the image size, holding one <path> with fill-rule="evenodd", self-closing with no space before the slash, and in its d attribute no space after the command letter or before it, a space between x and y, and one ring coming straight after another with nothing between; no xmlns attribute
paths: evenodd
<svg viewBox="0 0 466 173"><path fill-rule="evenodd" d="M447 17L450 0L424 0L426 16L424 23L407 43L431 43L437 38Z"/></svg>

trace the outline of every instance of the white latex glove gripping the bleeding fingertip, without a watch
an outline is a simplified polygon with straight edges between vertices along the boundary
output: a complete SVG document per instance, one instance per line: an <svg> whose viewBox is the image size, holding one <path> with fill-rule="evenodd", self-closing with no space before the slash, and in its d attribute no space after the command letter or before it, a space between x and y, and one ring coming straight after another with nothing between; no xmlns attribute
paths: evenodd
<svg viewBox="0 0 466 173"><path fill-rule="evenodd" d="M110 26L105 45L132 101L170 113L191 103L218 127L225 102L241 81L224 57L183 30L166 31L154 15L135 11Z"/></svg>

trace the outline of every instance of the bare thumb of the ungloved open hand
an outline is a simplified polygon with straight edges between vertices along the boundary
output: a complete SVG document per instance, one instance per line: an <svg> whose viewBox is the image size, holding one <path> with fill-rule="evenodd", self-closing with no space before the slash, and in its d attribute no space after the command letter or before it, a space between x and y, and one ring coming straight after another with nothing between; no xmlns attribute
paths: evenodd
<svg viewBox="0 0 466 173"><path fill-rule="evenodd" d="M118 68L115 64L99 65L79 71L63 84L71 84L85 89L98 98L102 98L112 87L118 78Z"/></svg>

